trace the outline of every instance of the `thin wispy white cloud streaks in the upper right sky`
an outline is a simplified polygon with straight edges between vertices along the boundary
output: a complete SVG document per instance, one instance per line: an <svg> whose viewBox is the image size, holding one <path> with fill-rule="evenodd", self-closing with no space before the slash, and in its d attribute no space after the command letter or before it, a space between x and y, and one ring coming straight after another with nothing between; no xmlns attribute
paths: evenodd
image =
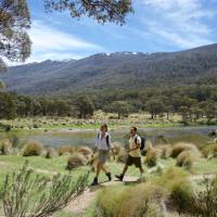
<svg viewBox="0 0 217 217"><path fill-rule="evenodd" d="M143 18L148 31L181 49L213 43L212 28L205 22L216 12L205 9L200 0L142 0L143 9L151 12Z"/></svg>

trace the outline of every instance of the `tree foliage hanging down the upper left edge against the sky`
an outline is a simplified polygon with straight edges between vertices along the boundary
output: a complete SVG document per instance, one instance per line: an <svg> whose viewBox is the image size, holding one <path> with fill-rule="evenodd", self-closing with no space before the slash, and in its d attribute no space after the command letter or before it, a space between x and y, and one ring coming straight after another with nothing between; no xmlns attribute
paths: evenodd
<svg viewBox="0 0 217 217"><path fill-rule="evenodd" d="M24 62L30 55L30 39L27 29L30 16L26 0L0 1L0 56ZM0 71L5 64L0 59Z"/></svg>

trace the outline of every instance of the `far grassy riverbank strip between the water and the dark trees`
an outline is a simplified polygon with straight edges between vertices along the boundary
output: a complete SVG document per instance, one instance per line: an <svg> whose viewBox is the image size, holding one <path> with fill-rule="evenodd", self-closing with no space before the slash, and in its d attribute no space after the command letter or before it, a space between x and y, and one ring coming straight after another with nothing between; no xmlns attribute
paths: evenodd
<svg viewBox="0 0 217 217"><path fill-rule="evenodd" d="M216 122L207 123L206 119L199 119L194 123L183 124L180 115L171 115L166 117L156 117L151 119L146 113L132 114L123 119L111 118L106 113L97 113L91 119L76 119L73 117L26 117L15 118L13 120L0 120L2 126L15 131L33 131L33 130L95 130L102 123L107 123L110 130L128 129L136 125L138 128L166 128L166 127L183 127L183 126L204 126L217 125ZM3 127L1 127L3 129Z"/></svg>

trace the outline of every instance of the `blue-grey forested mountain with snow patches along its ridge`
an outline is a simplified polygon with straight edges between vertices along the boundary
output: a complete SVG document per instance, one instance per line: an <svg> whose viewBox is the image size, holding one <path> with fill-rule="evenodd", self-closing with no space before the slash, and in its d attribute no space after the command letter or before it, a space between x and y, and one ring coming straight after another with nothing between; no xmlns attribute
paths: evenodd
<svg viewBox="0 0 217 217"><path fill-rule="evenodd" d="M9 67L0 75L22 94L137 89L217 82L217 43L179 52L100 53L78 61L44 61Z"/></svg>

